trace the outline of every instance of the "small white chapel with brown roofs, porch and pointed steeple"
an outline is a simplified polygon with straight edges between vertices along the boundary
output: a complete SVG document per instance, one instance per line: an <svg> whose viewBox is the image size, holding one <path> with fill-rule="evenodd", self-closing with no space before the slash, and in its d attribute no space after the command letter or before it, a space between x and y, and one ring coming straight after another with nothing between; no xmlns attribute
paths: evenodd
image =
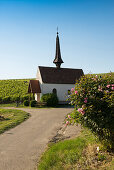
<svg viewBox="0 0 114 170"><path fill-rule="evenodd" d="M46 93L55 93L59 103L67 103L69 91L75 86L76 80L84 75L82 69L62 68L64 63L61 57L59 35L56 36L56 52L53 63L55 67L38 66L36 80L30 80L28 93L35 95L40 102L41 96Z"/></svg>

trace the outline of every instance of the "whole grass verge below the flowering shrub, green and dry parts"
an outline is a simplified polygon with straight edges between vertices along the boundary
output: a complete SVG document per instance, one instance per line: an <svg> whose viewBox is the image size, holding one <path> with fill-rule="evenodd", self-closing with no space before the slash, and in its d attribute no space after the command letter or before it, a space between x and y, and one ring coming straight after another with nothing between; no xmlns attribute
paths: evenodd
<svg viewBox="0 0 114 170"><path fill-rule="evenodd" d="M49 144L40 159L38 170L110 169L114 168L112 158L96 136L84 129L75 139Z"/></svg>

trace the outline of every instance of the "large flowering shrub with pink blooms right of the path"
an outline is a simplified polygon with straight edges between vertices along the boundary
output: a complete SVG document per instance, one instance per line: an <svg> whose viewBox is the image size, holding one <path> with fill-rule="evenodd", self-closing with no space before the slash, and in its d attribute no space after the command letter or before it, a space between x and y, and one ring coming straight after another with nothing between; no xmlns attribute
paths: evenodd
<svg viewBox="0 0 114 170"><path fill-rule="evenodd" d="M69 100L75 107L73 121L89 127L100 138L114 140L114 79L110 75L83 76L71 89ZM67 118L72 122L72 119ZM68 122L67 122L68 124Z"/></svg>

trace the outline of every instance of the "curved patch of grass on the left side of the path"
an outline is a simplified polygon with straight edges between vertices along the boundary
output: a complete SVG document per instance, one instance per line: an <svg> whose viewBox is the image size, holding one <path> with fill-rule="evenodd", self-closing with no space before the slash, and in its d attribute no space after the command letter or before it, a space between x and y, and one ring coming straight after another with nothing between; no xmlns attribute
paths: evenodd
<svg viewBox="0 0 114 170"><path fill-rule="evenodd" d="M0 116L3 117L0 120L0 133L3 133L28 119L29 114L21 110L0 109Z"/></svg>

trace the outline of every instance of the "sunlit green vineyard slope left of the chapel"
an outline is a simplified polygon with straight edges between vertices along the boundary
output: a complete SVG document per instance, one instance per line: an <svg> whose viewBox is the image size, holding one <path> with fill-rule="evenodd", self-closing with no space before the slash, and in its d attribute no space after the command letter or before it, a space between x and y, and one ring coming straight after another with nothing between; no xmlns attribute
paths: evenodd
<svg viewBox="0 0 114 170"><path fill-rule="evenodd" d="M29 98L28 84L29 79L0 80L0 103Z"/></svg>

